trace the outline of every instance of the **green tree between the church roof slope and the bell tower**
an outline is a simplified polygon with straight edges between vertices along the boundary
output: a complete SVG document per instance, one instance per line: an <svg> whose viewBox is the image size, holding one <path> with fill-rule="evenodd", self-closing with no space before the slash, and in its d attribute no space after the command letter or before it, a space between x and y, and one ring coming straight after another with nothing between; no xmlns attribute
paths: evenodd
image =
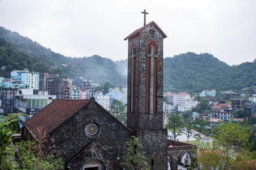
<svg viewBox="0 0 256 170"><path fill-rule="evenodd" d="M126 125L127 114L125 112L125 108L126 104L114 99L110 106L110 113L112 113L112 115L114 115L120 122L123 122Z"/></svg>

